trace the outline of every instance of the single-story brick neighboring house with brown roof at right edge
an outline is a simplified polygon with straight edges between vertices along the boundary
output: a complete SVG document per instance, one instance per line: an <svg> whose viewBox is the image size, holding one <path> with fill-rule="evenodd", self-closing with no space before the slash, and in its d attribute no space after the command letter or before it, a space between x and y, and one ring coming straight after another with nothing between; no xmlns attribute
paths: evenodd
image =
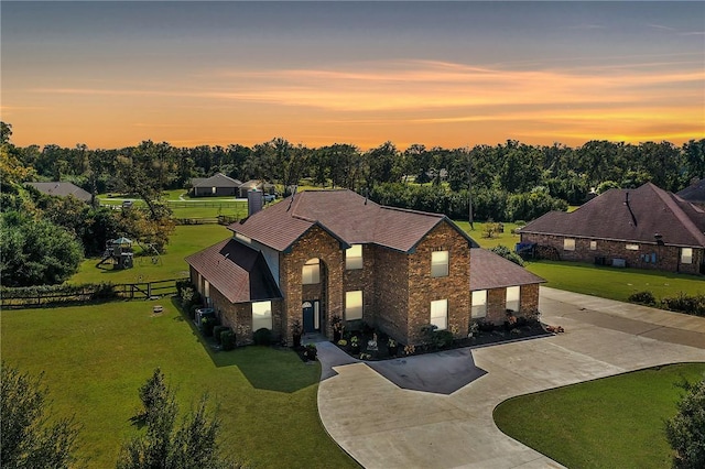
<svg viewBox="0 0 705 469"><path fill-rule="evenodd" d="M647 183L551 211L521 229L521 242L566 261L703 274L705 210Z"/></svg>

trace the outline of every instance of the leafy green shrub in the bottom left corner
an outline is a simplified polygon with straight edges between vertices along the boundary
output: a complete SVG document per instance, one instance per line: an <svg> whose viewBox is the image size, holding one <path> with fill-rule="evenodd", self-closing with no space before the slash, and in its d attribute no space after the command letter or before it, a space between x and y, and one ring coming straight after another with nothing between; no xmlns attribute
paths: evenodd
<svg viewBox="0 0 705 469"><path fill-rule="evenodd" d="M3 361L0 385L0 467L69 467L75 461L79 426L73 418L50 418L42 377L31 377Z"/></svg>

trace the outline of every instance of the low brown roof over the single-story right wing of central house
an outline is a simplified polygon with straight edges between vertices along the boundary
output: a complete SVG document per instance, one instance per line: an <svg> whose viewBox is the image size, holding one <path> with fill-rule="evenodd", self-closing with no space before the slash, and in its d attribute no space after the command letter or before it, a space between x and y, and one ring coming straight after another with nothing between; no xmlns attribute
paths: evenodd
<svg viewBox="0 0 705 469"><path fill-rule="evenodd" d="M545 280L486 249L470 250L470 291L543 283Z"/></svg>

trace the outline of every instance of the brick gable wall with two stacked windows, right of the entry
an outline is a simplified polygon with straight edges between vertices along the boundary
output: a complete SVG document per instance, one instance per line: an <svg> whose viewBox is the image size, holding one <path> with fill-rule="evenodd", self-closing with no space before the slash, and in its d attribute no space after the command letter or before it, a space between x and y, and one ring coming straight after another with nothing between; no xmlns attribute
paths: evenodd
<svg viewBox="0 0 705 469"><path fill-rule="evenodd" d="M431 276L431 253L448 251L448 275ZM467 337L470 318L470 249L468 241L446 221L441 222L409 254L410 343L422 340L421 328L431 321L431 302L448 301L448 330Z"/></svg>

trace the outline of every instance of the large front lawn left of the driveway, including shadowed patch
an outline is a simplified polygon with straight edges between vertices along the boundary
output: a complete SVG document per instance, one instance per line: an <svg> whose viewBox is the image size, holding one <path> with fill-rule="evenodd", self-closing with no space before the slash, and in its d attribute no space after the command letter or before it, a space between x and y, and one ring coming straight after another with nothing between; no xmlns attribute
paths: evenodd
<svg viewBox="0 0 705 469"><path fill-rule="evenodd" d="M138 388L161 367L182 411L204 392L219 405L221 448L252 466L356 467L325 433L317 413L318 363L289 350L248 347L212 353L189 321L162 299L54 309L3 310L2 359L45 372L56 416L83 425L88 468L115 467L122 441L139 429Z"/></svg>

